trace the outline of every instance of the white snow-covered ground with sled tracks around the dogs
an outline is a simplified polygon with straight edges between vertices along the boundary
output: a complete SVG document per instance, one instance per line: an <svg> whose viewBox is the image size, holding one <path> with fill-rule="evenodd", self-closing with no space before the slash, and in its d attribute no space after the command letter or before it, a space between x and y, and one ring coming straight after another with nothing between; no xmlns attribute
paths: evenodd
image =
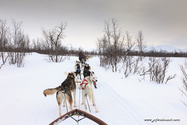
<svg viewBox="0 0 187 125"><path fill-rule="evenodd" d="M0 124L1 125L47 125L59 117L55 94L45 97L43 90L59 86L66 78L64 72L74 70L77 57L61 63L48 63L46 55L32 53L25 57L22 68L6 64L0 70ZM99 58L87 63L98 78L98 89L94 89L98 113L91 106L91 114L109 125L186 125L187 107L181 100L179 64L184 58L171 58L168 74L177 77L167 84L157 84L149 79L142 80L138 75L124 78L123 73L113 73L99 66ZM79 101L77 107L84 110ZM81 100L81 98L80 98ZM66 108L62 108L62 114ZM76 117L75 117L76 118ZM152 119L145 121L145 119ZM180 121L153 121L179 119ZM75 125L69 118L60 124ZM84 119L79 125L94 122Z"/></svg>

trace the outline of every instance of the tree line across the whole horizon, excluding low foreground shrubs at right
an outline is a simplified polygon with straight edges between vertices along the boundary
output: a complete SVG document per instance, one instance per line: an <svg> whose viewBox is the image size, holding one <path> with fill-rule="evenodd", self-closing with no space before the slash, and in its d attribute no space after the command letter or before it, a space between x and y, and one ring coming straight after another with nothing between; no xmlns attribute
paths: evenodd
<svg viewBox="0 0 187 125"><path fill-rule="evenodd" d="M110 60L113 70L117 71L117 63L126 56L138 56L142 60L145 56L150 57L186 57L183 52L168 53L165 51L157 52L154 49L146 52L145 41L142 31L138 32L136 42L132 40L132 36L125 32L122 34L118 27L117 20L112 18L104 23L104 35L97 40L97 50L84 51L89 55L100 55L101 62ZM83 49L72 46L68 48L62 45L65 38L66 22L61 22L53 29L42 29L42 37L30 40L29 35L22 29L23 22L11 20L11 26L8 26L6 20L0 19L0 59L3 64L8 60L9 64L16 64L17 67L23 66L23 59L26 53L37 52L47 54L49 62L61 62L64 55L77 53ZM137 47L134 50L134 47ZM6 53L5 53L6 52ZM103 57L102 57L103 56ZM102 63L101 63L102 65Z"/></svg>

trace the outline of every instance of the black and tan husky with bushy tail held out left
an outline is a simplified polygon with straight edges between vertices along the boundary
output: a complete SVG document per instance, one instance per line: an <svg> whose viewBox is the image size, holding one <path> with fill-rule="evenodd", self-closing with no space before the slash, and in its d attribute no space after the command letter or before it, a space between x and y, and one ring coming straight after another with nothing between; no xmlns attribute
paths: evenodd
<svg viewBox="0 0 187 125"><path fill-rule="evenodd" d="M75 73L65 72L65 74L67 75L67 78L61 83L61 86L58 86L56 88L46 89L43 91L43 94L45 96L53 95L56 92L56 100L59 106L60 116L61 116L62 101L63 101L63 107L65 107L65 101L67 99L70 105L70 110L72 110L72 103L73 103L72 93L74 97L74 107L76 107L76 84L75 83L79 82L76 79Z"/></svg>

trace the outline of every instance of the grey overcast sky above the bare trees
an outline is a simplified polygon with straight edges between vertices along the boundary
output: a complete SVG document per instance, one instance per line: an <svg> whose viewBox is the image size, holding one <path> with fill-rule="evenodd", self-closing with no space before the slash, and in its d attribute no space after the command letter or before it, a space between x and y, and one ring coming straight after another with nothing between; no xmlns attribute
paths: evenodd
<svg viewBox="0 0 187 125"><path fill-rule="evenodd" d="M84 50L96 48L109 18L134 39L141 30L148 46L187 48L187 0L1 0L0 19L12 18L31 39L67 22L63 44Z"/></svg>

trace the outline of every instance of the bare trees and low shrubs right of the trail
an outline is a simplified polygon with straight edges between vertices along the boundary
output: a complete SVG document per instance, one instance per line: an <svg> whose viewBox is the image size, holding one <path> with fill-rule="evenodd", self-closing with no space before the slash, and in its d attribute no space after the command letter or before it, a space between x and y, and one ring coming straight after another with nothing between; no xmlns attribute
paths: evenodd
<svg viewBox="0 0 187 125"><path fill-rule="evenodd" d="M169 63L172 61L170 57L176 53L155 50L145 52L146 42L143 32L139 31L133 41L128 31L122 33L114 18L105 21L103 37L98 39L96 45L100 66L106 70L111 69L112 72L123 72L125 78L137 74L143 79L149 76L150 81L166 84L176 76L176 74L166 76ZM148 60L145 57L149 57Z"/></svg>

